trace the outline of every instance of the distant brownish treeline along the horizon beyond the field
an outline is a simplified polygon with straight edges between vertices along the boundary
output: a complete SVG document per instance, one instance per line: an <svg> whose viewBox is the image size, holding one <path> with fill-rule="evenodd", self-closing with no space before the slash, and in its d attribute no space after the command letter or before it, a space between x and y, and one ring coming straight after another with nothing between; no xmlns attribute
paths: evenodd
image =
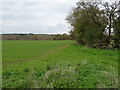
<svg viewBox="0 0 120 90"><path fill-rule="evenodd" d="M2 40L73 40L67 34L2 34Z"/></svg>

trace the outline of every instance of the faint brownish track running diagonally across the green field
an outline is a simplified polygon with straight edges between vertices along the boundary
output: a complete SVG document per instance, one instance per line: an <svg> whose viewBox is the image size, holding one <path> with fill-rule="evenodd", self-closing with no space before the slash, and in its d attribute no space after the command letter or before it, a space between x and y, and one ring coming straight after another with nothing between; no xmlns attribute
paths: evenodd
<svg viewBox="0 0 120 90"><path fill-rule="evenodd" d="M9 62L9 63L5 63L5 64L2 64L3 66L7 66L7 65L14 65L14 64L17 64L17 63L21 63L21 62L24 62L24 61L31 61L31 60L38 60L38 59L42 59L44 57L47 57L48 55L52 55L58 51L61 51L63 50L64 48L67 48L69 45L68 44L64 44L64 45L61 45L59 47L56 47L56 48L53 48L41 55L38 55L38 56L33 56L33 57L30 57L30 58L25 58L25 59L18 59L14 62Z"/></svg>

